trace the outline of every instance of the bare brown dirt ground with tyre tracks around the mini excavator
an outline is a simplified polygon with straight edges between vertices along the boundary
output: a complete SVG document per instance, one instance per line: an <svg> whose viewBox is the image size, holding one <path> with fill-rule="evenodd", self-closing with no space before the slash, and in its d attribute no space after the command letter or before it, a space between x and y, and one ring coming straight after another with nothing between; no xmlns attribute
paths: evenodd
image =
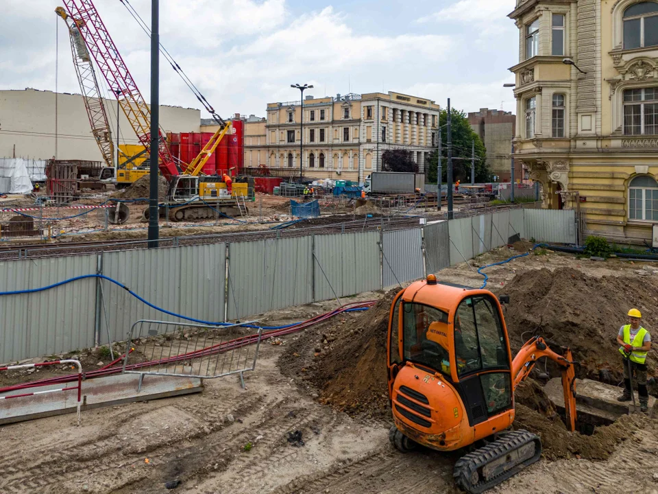
<svg viewBox="0 0 658 494"><path fill-rule="evenodd" d="M593 267L609 275L637 269L616 262ZM581 269L583 261L529 256L492 268L490 283L552 266ZM465 266L441 277L480 279ZM325 308L279 311L269 320L299 320ZM346 314L342 325L358 316ZM72 415L2 427L0 493L164 493L167 482L180 482L173 492L182 493L458 492L455 455L400 454L389 445L389 418L348 416L319 403L311 379L282 371L295 358L292 367L303 376L318 346L325 351L318 338L309 332L263 344L256 371L245 375L247 390L236 377L206 380L199 395L83 412L80 427ZM658 422L639 417L627 427L631 438L608 460L543 459L492 492L658 493Z"/></svg>

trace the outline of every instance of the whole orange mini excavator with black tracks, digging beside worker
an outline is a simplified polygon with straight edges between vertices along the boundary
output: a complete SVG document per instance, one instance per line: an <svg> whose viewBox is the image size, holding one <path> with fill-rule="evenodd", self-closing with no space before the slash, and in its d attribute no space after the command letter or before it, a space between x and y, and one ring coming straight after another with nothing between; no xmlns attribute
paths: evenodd
<svg viewBox="0 0 658 494"><path fill-rule="evenodd" d="M389 316L391 443L403 452L416 445L468 448L453 473L468 493L484 492L539 460L539 437L509 428L514 390L541 357L561 367L567 427L576 425L570 349L559 355L535 336L512 357L501 303L509 297L439 283L430 274L395 296Z"/></svg>

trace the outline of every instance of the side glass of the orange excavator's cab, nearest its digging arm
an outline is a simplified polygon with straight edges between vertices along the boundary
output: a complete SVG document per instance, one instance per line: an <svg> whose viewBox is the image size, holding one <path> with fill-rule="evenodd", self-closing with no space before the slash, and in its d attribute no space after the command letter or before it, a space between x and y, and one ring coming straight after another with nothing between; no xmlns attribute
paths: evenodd
<svg viewBox="0 0 658 494"><path fill-rule="evenodd" d="M467 297L454 318L457 373L509 369L507 345L496 305L489 296Z"/></svg>

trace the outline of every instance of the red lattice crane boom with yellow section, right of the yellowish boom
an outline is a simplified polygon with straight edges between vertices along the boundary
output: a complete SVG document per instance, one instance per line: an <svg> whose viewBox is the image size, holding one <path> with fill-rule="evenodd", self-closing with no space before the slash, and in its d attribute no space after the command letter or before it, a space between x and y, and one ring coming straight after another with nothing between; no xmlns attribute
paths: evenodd
<svg viewBox="0 0 658 494"><path fill-rule="evenodd" d="M117 45L110 36L91 0L64 0L64 6L80 30L91 56L96 60L99 71L108 82L110 89L119 99L119 105L130 125L137 134L140 143L151 153L151 110L140 93L130 71L121 58ZM160 173L167 181L180 175L167 146L162 130L158 129L158 164Z"/></svg>

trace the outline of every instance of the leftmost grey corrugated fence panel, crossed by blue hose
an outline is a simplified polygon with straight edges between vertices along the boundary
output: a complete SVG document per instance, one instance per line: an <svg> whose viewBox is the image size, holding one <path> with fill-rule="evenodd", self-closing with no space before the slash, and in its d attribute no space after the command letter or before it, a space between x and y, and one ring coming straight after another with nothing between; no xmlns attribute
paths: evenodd
<svg viewBox="0 0 658 494"><path fill-rule="evenodd" d="M40 288L96 272L96 256L0 262L0 292ZM95 279L0 297L0 361L94 346Z"/></svg>

